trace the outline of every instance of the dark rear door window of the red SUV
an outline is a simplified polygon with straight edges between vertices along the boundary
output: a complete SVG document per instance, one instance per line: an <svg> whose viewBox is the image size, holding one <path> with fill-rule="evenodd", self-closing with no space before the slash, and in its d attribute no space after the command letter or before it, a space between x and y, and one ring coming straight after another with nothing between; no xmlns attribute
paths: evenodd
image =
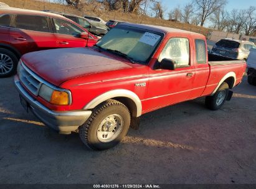
<svg viewBox="0 0 256 189"><path fill-rule="evenodd" d="M45 16L17 14L16 28L37 32L49 32L48 18Z"/></svg>

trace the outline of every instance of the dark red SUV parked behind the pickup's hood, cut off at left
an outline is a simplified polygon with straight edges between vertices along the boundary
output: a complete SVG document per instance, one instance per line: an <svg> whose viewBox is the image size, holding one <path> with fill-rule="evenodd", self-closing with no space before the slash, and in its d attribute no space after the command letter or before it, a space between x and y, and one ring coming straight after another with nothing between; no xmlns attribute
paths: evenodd
<svg viewBox="0 0 256 189"><path fill-rule="evenodd" d="M15 73L24 53L92 46L97 40L82 26L58 14L0 9L0 77Z"/></svg>

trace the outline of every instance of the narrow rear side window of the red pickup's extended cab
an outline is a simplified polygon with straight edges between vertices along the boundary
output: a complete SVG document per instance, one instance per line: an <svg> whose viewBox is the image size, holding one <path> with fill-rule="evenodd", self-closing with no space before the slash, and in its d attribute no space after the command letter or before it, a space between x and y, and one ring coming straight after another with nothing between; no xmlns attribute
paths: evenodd
<svg viewBox="0 0 256 189"><path fill-rule="evenodd" d="M196 62L206 63L206 42L203 39L196 39Z"/></svg>

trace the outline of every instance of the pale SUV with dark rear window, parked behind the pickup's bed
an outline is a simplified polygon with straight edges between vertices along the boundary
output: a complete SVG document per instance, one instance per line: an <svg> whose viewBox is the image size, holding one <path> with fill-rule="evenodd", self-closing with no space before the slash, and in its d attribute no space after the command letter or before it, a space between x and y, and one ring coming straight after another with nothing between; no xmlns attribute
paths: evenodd
<svg viewBox="0 0 256 189"><path fill-rule="evenodd" d="M256 45L245 40L222 39L214 45L211 53L238 60L247 60L250 48L256 48Z"/></svg>

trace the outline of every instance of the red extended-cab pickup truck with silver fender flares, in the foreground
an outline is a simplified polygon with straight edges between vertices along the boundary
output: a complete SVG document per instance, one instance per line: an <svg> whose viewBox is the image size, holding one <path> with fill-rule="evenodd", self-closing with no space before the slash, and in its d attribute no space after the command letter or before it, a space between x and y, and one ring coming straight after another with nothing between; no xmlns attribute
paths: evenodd
<svg viewBox="0 0 256 189"><path fill-rule="evenodd" d="M27 53L14 81L26 111L104 150L138 128L142 114L164 106L206 96L207 108L219 109L246 68L224 58L207 55L201 34L120 24L95 47Z"/></svg>

